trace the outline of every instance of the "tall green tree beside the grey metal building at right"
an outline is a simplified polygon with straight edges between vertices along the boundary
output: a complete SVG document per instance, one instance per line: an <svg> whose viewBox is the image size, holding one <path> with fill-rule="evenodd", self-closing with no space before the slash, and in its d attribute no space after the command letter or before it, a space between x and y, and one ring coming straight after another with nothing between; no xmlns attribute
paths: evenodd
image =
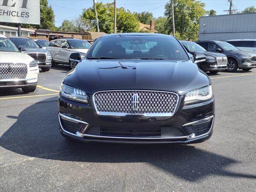
<svg viewBox="0 0 256 192"><path fill-rule="evenodd" d="M199 18L204 16L205 4L198 0L174 0L175 30L180 38L197 40L199 31ZM165 5L164 15L167 17L166 28L168 34L172 32L172 4Z"/></svg>

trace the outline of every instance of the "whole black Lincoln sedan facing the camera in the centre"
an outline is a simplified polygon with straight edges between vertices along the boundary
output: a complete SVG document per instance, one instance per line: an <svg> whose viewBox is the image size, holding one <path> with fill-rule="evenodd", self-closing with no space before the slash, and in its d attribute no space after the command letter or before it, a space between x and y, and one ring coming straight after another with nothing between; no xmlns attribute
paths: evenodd
<svg viewBox="0 0 256 192"><path fill-rule="evenodd" d="M70 59L78 59L73 53ZM173 36L110 34L64 78L60 132L81 141L195 143L212 135L208 76Z"/></svg>

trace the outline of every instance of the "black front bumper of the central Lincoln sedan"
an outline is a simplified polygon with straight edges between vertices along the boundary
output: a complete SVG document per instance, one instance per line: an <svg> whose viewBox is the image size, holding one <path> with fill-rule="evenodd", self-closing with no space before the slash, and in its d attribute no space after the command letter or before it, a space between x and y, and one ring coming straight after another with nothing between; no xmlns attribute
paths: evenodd
<svg viewBox="0 0 256 192"><path fill-rule="evenodd" d="M188 106L183 106L183 101L184 97L181 96L179 107L172 117L148 118L142 115L121 117L98 116L92 105L73 102L59 96L60 132L66 137L96 142L189 144L209 139L214 124L214 98ZM148 134L159 130L160 135L145 136L140 132L143 128L149 130ZM110 132L114 130L119 135L106 135L106 130ZM200 131L197 132L198 130ZM122 134L129 132L131 136L120 135L120 131Z"/></svg>

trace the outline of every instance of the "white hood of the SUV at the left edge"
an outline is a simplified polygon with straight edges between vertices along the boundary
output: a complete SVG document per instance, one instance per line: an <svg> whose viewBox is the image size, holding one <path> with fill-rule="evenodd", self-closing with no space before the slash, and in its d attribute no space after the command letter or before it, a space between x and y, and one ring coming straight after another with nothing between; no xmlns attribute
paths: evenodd
<svg viewBox="0 0 256 192"><path fill-rule="evenodd" d="M25 63L30 64L34 59L21 52L0 52L1 63Z"/></svg>

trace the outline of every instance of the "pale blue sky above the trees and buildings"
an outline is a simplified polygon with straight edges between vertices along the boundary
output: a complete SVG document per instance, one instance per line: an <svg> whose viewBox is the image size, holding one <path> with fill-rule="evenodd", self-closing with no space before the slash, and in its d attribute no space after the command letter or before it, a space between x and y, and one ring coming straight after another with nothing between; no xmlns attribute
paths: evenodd
<svg viewBox="0 0 256 192"><path fill-rule="evenodd" d="M97 2L114 2L114 0L97 0ZM117 7L124 7L131 12L152 12L155 18L164 16L164 5L168 0L116 0ZM206 10L215 10L217 15L227 14L228 0L201 0L206 4ZM64 20L72 20L82 14L84 8L93 6L93 0L48 0L55 14L55 25L60 26ZM238 11L248 6L256 6L256 0L233 0L234 8Z"/></svg>

